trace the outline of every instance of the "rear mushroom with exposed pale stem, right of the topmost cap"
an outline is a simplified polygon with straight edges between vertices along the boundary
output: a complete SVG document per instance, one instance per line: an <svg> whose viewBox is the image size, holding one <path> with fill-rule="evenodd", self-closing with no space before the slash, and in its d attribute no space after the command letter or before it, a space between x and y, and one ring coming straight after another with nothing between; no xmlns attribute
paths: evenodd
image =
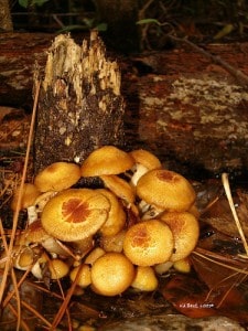
<svg viewBox="0 0 248 331"><path fill-rule="evenodd" d="M138 180L149 170L161 169L160 160L151 152L144 149L137 149L129 152L134 159L136 164L132 167L133 175L131 177L131 184L137 185Z"/></svg>

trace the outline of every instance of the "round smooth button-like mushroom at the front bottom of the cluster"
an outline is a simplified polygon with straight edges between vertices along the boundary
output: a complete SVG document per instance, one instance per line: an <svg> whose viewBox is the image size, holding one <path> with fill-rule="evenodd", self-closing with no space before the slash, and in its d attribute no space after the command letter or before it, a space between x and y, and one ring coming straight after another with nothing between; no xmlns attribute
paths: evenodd
<svg viewBox="0 0 248 331"><path fill-rule="evenodd" d="M103 296L122 293L133 281L134 267L121 253L106 253L91 267L91 288Z"/></svg>

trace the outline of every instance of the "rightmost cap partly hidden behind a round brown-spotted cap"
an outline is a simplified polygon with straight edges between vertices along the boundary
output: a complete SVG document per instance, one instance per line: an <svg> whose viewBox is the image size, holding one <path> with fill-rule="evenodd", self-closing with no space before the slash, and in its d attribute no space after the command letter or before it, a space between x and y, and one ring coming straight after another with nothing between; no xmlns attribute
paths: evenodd
<svg viewBox="0 0 248 331"><path fill-rule="evenodd" d="M169 212L160 218L168 224L174 237L174 250L170 260L174 263L187 257L198 241L200 225L196 217L187 212Z"/></svg>

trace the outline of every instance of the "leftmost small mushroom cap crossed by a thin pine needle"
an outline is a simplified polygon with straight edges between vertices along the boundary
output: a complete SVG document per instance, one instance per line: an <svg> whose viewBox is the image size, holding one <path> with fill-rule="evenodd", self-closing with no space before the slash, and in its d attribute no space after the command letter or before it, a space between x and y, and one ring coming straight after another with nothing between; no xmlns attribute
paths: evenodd
<svg viewBox="0 0 248 331"><path fill-rule="evenodd" d="M11 209L13 211L17 210L19 194L21 194L21 205L20 210L25 210L29 206L33 205L36 197L41 194L39 189L31 183L24 183L22 192L20 191L20 186L14 190L13 197L11 201Z"/></svg>

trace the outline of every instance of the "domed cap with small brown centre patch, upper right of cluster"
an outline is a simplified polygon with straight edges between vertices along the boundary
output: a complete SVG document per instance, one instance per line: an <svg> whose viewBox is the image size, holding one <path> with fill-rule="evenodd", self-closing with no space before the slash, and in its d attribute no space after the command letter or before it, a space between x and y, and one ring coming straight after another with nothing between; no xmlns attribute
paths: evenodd
<svg viewBox="0 0 248 331"><path fill-rule="evenodd" d="M143 174L137 183L137 195L148 204L168 211L187 211L195 201L195 191L181 174L154 169Z"/></svg>

